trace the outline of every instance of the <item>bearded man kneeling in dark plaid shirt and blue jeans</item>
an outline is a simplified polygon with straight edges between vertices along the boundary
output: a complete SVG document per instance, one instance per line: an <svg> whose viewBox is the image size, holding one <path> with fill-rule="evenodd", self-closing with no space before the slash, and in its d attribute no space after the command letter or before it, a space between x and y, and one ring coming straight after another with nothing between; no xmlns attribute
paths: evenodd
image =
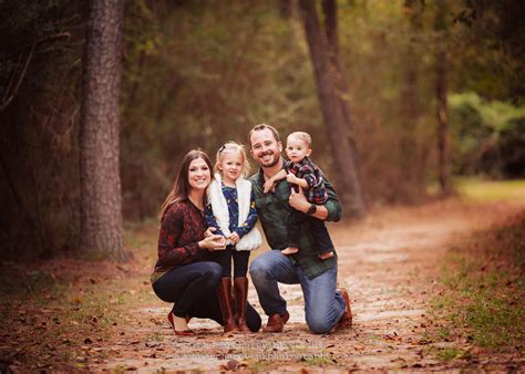
<svg viewBox="0 0 525 374"><path fill-rule="evenodd" d="M265 180L284 167L280 156L282 143L278 132L266 124L255 126L249 133L249 141L250 154L260 166L259 172L249 179L266 239L274 249L256 258L249 269L260 305L268 315L262 331L282 332L290 318L278 283L301 284L306 321L313 333L328 333L332 329L351 325L348 292L336 290L337 253L329 252L323 259L318 257L308 222L301 226L300 251L291 256L280 252L288 247L287 224L291 209L322 220L338 221L341 218L341 205L332 185L326 180L328 200L322 206L308 202L301 190L290 193L286 179L275 186L275 191L264 194Z"/></svg>

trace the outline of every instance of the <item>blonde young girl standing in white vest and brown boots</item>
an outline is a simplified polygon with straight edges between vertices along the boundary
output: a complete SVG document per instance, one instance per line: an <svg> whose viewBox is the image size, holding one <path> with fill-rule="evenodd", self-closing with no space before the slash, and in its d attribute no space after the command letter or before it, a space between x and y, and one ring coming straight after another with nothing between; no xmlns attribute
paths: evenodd
<svg viewBox="0 0 525 374"><path fill-rule="evenodd" d="M224 332L249 331L246 325L248 297L249 251L261 243L260 232L255 227L255 209L251 184L245 179L249 164L244 147L228 142L217 152L214 167L215 180L208 187L206 222L214 227L215 235L226 238L226 249L213 253L223 267L218 297L224 318ZM231 294L231 259L234 260L235 307ZM235 316L234 316L235 311Z"/></svg>

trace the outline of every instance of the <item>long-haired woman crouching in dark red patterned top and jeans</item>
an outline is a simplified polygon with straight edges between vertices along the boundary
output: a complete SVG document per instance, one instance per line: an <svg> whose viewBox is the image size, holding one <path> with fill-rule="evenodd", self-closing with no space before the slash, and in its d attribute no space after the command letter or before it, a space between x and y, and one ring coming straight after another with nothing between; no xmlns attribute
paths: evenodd
<svg viewBox="0 0 525 374"><path fill-rule="evenodd" d="M212 179L212 163L202 150L184 156L172 191L161 208L158 259L152 274L156 295L174 302L167 319L176 335L193 335L187 322L192 316L208 318L224 325L217 298L222 267L210 261L210 252L224 250L226 239L205 238L204 207ZM260 328L260 316L248 305L247 324Z"/></svg>

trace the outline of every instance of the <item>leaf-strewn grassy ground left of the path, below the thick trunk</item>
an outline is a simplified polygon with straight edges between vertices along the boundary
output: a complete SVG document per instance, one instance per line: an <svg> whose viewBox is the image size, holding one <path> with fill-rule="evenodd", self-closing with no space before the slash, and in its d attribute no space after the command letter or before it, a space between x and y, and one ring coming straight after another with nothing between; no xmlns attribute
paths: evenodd
<svg viewBox="0 0 525 374"><path fill-rule="evenodd" d="M132 262L2 262L0 361L25 372L86 370L89 362L106 359L107 343L126 330L133 308L154 299L144 269L156 254L152 232L126 231Z"/></svg>

